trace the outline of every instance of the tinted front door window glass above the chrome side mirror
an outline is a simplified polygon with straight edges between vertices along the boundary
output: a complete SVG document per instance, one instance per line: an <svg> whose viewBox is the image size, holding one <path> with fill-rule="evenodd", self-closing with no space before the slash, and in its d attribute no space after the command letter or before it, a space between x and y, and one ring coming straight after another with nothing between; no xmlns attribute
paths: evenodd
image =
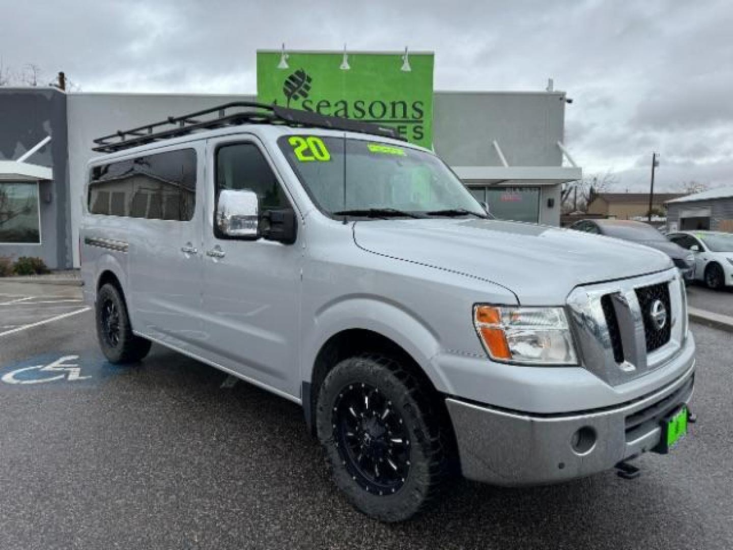
<svg viewBox="0 0 733 550"><path fill-rule="evenodd" d="M290 208L284 191L257 145L237 143L216 152L216 192L250 189L259 197L259 208Z"/></svg>

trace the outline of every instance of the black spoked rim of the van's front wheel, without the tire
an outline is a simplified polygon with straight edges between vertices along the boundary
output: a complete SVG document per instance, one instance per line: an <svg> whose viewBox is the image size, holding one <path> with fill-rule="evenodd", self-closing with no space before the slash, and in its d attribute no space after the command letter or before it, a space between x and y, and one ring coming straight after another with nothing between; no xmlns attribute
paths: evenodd
<svg viewBox="0 0 733 550"><path fill-rule="evenodd" d="M339 455L353 479L373 494L391 494L410 470L410 437L391 400L368 384L349 384L332 415Z"/></svg>

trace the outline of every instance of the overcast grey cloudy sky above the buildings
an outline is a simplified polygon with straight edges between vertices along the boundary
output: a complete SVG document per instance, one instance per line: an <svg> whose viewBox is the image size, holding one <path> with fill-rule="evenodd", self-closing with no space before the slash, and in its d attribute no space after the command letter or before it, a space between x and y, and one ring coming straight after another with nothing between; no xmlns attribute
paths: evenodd
<svg viewBox="0 0 733 550"><path fill-rule="evenodd" d="M565 141L619 191L733 186L733 1L0 0L0 57L84 92L256 91L255 51L435 51L436 89L574 101Z"/></svg>

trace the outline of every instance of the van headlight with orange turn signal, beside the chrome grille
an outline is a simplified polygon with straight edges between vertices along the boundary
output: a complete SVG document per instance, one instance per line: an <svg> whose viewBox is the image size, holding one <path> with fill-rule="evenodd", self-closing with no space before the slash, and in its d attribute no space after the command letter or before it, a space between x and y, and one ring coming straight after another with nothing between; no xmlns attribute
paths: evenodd
<svg viewBox="0 0 733 550"><path fill-rule="evenodd" d="M561 307L475 306L474 326L491 359L517 364L578 364Z"/></svg>

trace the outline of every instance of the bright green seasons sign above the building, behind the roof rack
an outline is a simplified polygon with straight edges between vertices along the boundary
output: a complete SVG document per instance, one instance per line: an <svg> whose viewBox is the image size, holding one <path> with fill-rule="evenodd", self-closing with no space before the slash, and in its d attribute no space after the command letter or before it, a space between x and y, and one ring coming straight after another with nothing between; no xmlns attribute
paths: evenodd
<svg viewBox="0 0 733 550"><path fill-rule="evenodd" d="M257 100L397 128L432 147L433 54L257 52Z"/></svg>

